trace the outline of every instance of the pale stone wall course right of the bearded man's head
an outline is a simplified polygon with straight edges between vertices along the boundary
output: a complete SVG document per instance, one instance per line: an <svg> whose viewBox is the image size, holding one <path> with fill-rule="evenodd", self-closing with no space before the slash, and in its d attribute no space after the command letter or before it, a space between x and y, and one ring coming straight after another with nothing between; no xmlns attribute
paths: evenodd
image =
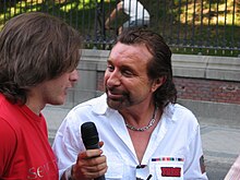
<svg viewBox="0 0 240 180"><path fill-rule="evenodd" d="M240 58L172 55L175 76L209 80L240 80Z"/></svg>

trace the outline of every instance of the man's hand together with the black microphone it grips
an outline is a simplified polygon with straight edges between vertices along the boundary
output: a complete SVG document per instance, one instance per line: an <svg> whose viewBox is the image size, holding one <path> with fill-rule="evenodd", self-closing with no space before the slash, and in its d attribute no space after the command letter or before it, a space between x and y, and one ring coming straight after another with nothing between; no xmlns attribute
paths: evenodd
<svg viewBox="0 0 240 180"><path fill-rule="evenodd" d="M81 133L86 151L77 155L76 164L65 170L61 180L105 180L106 156L101 156L103 151L99 149L104 142L99 142L95 124L93 122L83 123Z"/></svg>

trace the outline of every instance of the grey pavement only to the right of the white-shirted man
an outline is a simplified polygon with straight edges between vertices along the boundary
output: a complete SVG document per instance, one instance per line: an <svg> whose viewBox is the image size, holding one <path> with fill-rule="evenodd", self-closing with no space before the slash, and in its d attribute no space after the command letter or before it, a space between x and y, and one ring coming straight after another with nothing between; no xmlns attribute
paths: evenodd
<svg viewBox="0 0 240 180"><path fill-rule="evenodd" d="M240 129L201 124L203 149L209 180L223 180L240 154Z"/></svg>

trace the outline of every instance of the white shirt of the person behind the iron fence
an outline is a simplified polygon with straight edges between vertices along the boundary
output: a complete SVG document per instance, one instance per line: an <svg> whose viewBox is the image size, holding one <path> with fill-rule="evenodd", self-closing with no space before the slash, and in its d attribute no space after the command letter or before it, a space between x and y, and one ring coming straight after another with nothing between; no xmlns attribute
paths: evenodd
<svg viewBox="0 0 240 180"><path fill-rule="evenodd" d="M136 20L149 21L149 13L137 0L123 0L121 2L123 11L130 16L131 22Z"/></svg>

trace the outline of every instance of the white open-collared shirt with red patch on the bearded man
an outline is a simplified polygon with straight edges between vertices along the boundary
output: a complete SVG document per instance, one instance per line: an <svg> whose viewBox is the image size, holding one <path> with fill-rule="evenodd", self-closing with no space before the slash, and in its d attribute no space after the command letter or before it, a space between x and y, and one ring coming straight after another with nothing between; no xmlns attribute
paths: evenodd
<svg viewBox="0 0 240 180"><path fill-rule="evenodd" d="M99 140L105 143L101 149L107 157L106 180L135 180L136 176L145 180L149 175L151 180L207 179L200 166L200 125L190 110L178 104L165 108L140 163L124 120L107 106L106 94L74 107L60 125L52 146L60 177L85 149L81 125L87 121L96 124ZM140 164L146 166L136 170ZM164 177L169 175L175 177Z"/></svg>

